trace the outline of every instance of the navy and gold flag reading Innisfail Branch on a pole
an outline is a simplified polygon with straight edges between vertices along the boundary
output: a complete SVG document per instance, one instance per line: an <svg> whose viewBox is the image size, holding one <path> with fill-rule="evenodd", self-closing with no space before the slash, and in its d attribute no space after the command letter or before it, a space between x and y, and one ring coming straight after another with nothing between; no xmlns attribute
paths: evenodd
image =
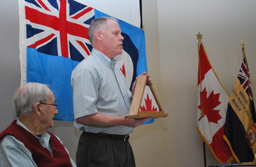
<svg viewBox="0 0 256 167"><path fill-rule="evenodd" d="M256 154L256 114L244 46L242 49L243 62L228 100L223 137L237 162L252 162Z"/></svg>

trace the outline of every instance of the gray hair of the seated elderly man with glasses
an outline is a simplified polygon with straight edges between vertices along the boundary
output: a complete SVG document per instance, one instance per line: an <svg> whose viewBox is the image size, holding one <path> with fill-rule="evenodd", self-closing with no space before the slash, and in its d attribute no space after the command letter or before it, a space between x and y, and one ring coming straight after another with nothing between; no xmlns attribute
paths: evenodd
<svg viewBox="0 0 256 167"><path fill-rule="evenodd" d="M50 95L49 87L42 83L29 82L19 87L12 98L14 113L19 118L33 111L36 102L45 102Z"/></svg>

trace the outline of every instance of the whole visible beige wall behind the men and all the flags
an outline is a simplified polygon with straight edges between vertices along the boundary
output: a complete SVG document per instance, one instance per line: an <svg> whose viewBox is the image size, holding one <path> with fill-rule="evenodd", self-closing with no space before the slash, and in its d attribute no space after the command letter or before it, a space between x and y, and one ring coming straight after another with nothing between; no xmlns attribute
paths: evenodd
<svg viewBox="0 0 256 167"><path fill-rule="evenodd" d="M0 131L15 115L13 92L20 85L17 0L0 5ZM148 72L169 117L135 128L130 142L137 167L203 166L202 139L196 131L198 51L196 34L213 69L230 94L241 66L241 39L256 93L256 1L143 0ZM59 136L75 160L80 132L73 122L55 121ZM217 163L206 148L207 166Z"/></svg>

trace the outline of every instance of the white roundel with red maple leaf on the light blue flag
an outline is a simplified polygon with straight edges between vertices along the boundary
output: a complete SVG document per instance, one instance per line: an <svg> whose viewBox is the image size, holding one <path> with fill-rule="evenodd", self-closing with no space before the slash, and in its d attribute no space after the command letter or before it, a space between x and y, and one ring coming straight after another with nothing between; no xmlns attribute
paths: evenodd
<svg viewBox="0 0 256 167"><path fill-rule="evenodd" d="M133 76L133 63L131 56L124 49L122 51L122 54L115 56L116 65L126 77L127 86L130 88Z"/></svg>

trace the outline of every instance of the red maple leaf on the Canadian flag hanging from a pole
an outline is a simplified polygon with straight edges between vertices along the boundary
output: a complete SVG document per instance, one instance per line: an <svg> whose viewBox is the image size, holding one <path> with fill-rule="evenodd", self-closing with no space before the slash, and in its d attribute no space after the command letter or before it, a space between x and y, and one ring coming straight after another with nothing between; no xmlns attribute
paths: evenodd
<svg viewBox="0 0 256 167"><path fill-rule="evenodd" d="M200 110L203 108L204 115L207 116L208 122L218 124L218 120L220 120L222 117L219 115L219 110L214 110L214 108L220 104L219 93L214 94L214 92L211 91L211 94L207 98L207 91L204 88L202 92L200 91L200 99L202 100L198 108ZM198 120L200 121L202 117L203 116L201 116Z"/></svg>

